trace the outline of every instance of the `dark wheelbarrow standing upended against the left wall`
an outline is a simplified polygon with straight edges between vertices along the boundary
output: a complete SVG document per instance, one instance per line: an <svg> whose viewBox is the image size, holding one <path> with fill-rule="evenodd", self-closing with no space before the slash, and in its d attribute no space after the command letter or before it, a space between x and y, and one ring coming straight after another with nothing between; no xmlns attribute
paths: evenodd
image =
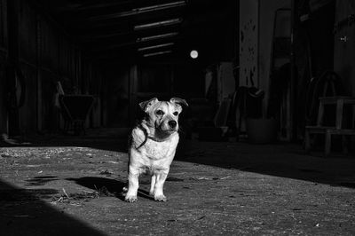
<svg viewBox="0 0 355 236"><path fill-rule="evenodd" d="M60 111L64 119L64 130L73 127L75 135L85 134L86 117L91 111L94 98L91 95L60 95Z"/></svg>

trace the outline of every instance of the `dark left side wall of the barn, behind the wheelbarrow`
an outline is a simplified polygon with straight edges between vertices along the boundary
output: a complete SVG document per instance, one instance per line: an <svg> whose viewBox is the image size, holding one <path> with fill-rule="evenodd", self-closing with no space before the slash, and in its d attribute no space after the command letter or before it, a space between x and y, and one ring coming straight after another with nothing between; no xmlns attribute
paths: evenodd
<svg viewBox="0 0 355 236"><path fill-rule="evenodd" d="M67 94L83 93L99 97L99 72L83 59L83 52L66 32L36 5L20 0L18 14L19 63L27 88L25 104L19 111L20 130L24 133L58 130L60 114L54 106L56 83L60 81ZM82 71L83 65L85 73ZM95 106L90 116L88 124L91 126L101 124L101 112L98 109L100 106ZM1 106L0 114L4 114ZM0 128L4 126L3 123L0 122Z"/></svg>

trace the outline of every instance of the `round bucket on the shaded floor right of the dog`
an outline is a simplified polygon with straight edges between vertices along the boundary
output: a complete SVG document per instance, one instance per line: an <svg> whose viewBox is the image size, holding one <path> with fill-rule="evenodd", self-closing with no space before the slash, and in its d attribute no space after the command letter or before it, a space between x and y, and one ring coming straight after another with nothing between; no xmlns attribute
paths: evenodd
<svg viewBox="0 0 355 236"><path fill-rule="evenodd" d="M248 119L248 141L253 144L270 144L276 140L277 122L274 119Z"/></svg>

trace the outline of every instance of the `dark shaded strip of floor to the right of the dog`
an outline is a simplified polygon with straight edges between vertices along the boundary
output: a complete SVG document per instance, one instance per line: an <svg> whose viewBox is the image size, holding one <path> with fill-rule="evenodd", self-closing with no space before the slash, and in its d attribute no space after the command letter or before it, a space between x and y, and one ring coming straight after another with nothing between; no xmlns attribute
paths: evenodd
<svg viewBox="0 0 355 236"><path fill-rule="evenodd" d="M246 143L183 141L178 147L176 160L319 184L355 186L355 159L352 156L312 156L296 145L255 146Z"/></svg>

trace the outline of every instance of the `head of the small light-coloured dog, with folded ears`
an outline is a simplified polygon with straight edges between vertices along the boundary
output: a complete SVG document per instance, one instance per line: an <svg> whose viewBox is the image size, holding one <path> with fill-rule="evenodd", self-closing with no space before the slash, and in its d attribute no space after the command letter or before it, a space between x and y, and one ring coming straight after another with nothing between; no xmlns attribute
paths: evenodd
<svg viewBox="0 0 355 236"><path fill-rule="evenodd" d="M178 115L183 110L182 105L188 106L182 98L171 98L170 101L152 98L139 103L146 113L146 124L163 134L172 134L178 130Z"/></svg>

